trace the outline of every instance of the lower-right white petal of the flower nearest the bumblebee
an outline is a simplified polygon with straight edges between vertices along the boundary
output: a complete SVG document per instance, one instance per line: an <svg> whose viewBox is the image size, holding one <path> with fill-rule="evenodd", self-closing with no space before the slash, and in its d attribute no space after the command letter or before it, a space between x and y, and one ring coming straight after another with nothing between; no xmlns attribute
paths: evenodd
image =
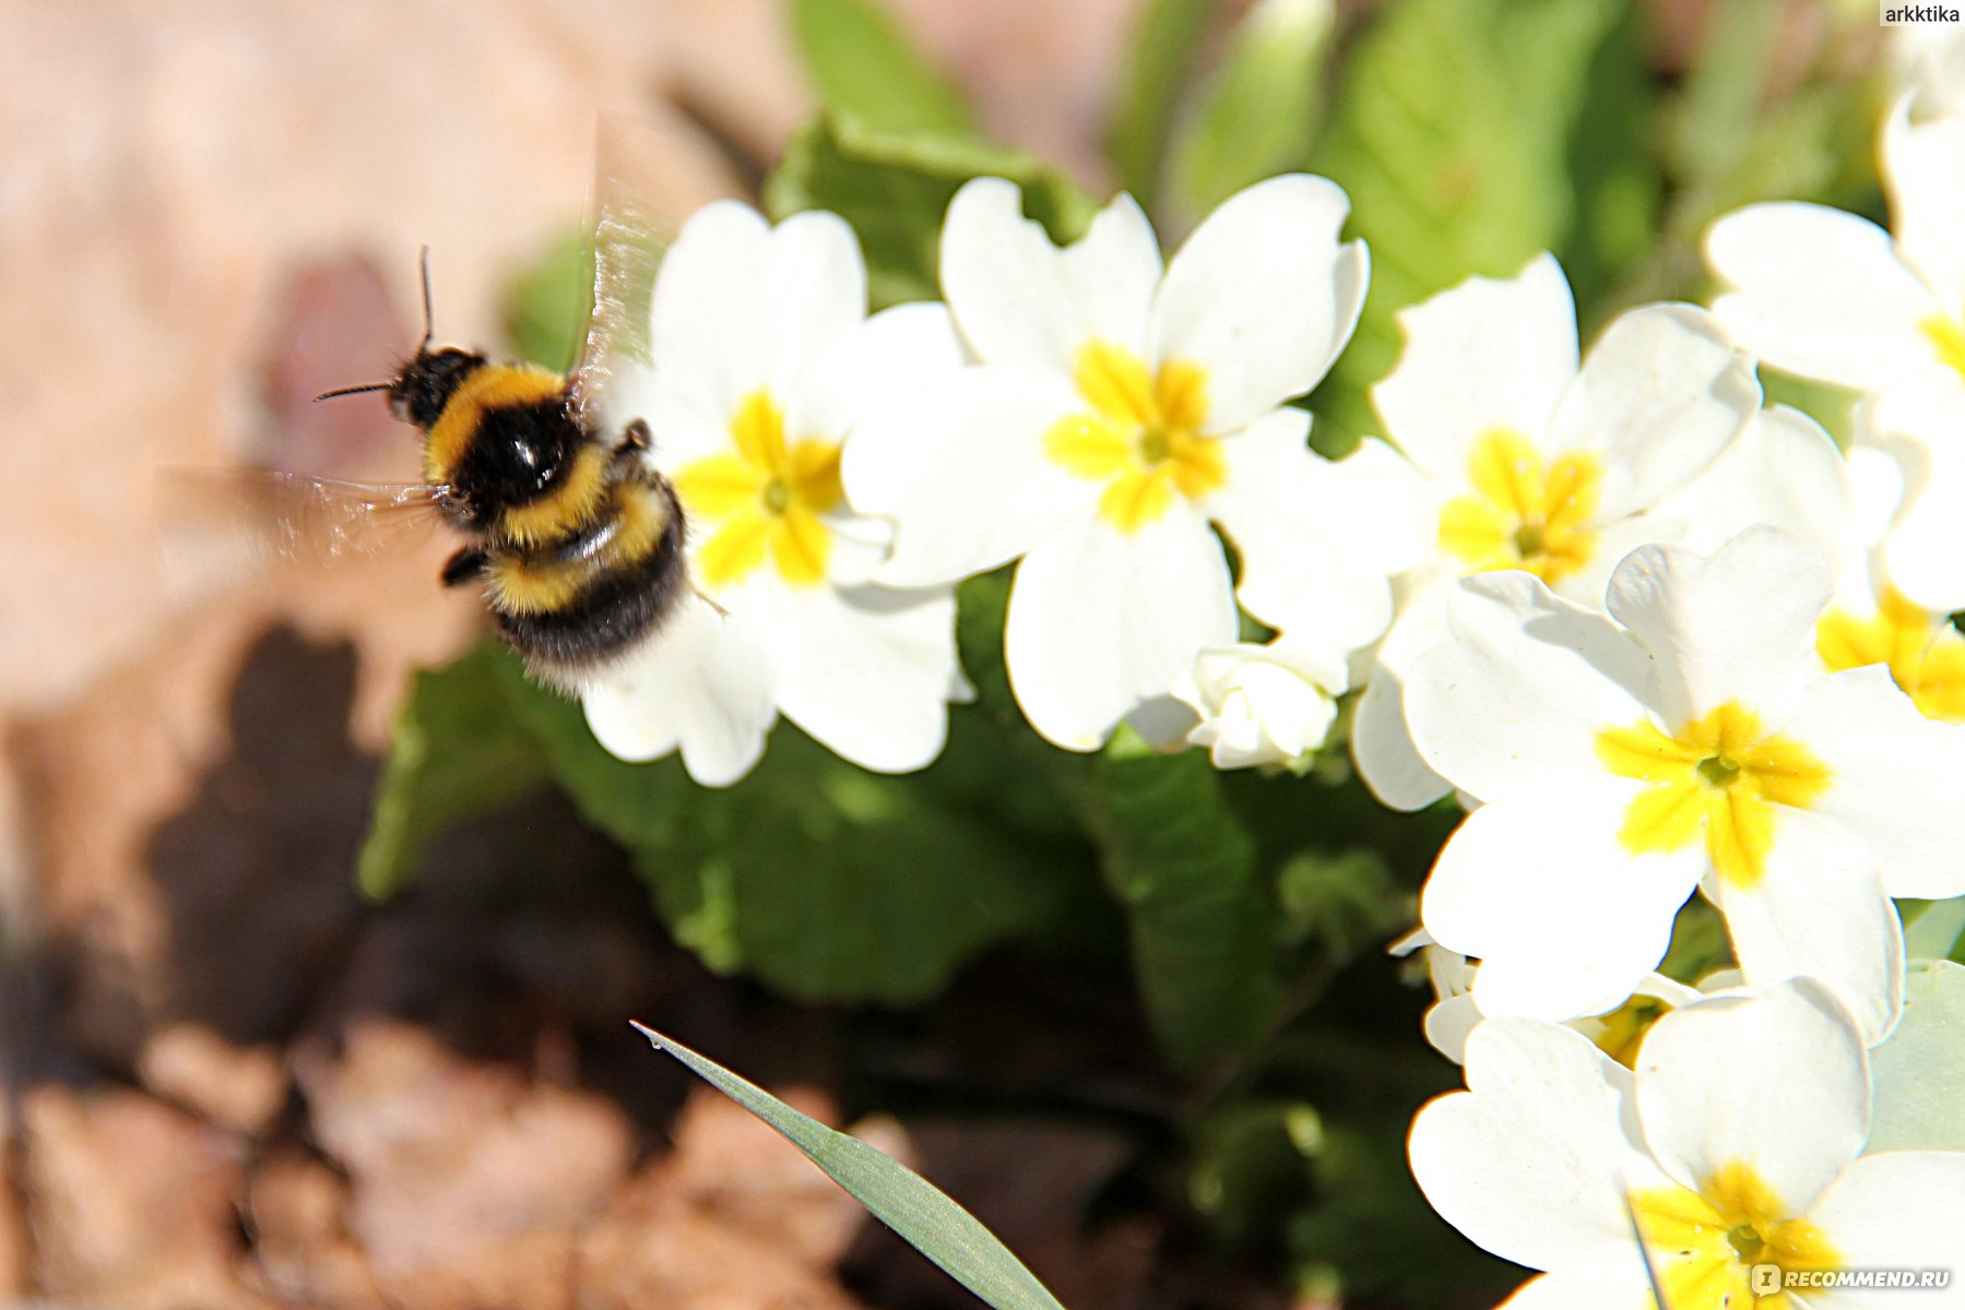
<svg viewBox="0 0 1965 1310"><path fill-rule="evenodd" d="M778 705L833 754L882 774L947 740L955 593L778 587Z"/></svg>

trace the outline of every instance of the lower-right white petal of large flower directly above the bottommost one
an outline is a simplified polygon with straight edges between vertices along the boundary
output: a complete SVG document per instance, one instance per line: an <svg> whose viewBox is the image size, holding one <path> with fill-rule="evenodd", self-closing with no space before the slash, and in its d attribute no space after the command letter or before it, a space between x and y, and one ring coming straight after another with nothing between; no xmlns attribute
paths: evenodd
<svg viewBox="0 0 1965 1310"><path fill-rule="evenodd" d="M1812 976L1881 1041L1904 998L1904 929L1877 880L1877 860L1831 823L1782 809L1761 880L1706 878L1751 984Z"/></svg>

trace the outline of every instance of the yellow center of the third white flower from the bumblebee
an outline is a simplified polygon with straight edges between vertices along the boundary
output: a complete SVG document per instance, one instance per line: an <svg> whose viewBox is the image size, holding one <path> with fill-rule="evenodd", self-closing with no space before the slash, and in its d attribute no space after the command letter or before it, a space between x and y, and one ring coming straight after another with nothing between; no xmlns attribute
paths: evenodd
<svg viewBox="0 0 1965 1310"><path fill-rule="evenodd" d="M1570 452L1544 462L1511 428L1484 432L1468 456L1474 493L1440 511L1440 550L1468 572L1529 570L1546 583L1590 564L1596 554L1598 493L1603 465Z"/></svg>

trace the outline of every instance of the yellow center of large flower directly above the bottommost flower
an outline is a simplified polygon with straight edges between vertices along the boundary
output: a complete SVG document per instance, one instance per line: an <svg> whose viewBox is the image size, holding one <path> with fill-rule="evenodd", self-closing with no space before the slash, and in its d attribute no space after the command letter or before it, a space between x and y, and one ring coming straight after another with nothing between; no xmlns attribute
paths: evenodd
<svg viewBox="0 0 1965 1310"><path fill-rule="evenodd" d="M1721 878L1751 888L1767 872L1780 807L1806 809L1829 770L1798 740L1761 733L1753 711L1727 701L1676 737L1651 721L1598 733L1598 758L1619 778L1649 782L1623 815L1631 854L1684 850L1702 835Z"/></svg>

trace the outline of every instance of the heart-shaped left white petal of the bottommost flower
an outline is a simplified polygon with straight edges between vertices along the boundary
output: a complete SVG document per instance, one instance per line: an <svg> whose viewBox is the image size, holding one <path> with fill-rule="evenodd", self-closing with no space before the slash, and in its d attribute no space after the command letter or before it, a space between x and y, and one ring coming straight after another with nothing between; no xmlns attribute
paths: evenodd
<svg viewBox="0 0 1965 1310"><path fill-rule="evenodd" d="M1617 1178L1631 1074L1586 1039L1529 1019L1468 1037L1468 1092L1413 1119L1413 1178L1448 1224L1529 1269L1643 1279Z"/></svg>

